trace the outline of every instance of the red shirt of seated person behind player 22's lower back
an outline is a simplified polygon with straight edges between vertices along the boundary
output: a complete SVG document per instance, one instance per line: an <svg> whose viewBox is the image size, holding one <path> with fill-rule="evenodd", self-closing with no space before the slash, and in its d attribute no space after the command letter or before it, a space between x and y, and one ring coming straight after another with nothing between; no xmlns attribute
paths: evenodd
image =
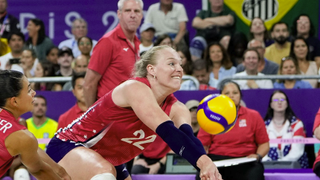
<svg viewBox="0 0 320 180"><path fill-rule="evenodd" d="M60 115L58 129L67 127L68 124L72 123L73 120L80 117L83 113L84 111L79 108L78 104L75 104L67 112Z"/></svg>

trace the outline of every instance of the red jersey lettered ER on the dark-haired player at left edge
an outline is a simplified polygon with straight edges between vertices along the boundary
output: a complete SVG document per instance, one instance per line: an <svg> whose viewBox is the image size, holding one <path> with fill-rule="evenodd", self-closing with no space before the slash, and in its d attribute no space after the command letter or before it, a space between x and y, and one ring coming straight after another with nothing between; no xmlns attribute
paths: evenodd
<svg viewBox="0 0 320 180"><path fill-rule="evenodd" d="M0 177L10 168L15 157L8 152L5 139L13 132L27 129L8 111L0 108Z"/></svg>

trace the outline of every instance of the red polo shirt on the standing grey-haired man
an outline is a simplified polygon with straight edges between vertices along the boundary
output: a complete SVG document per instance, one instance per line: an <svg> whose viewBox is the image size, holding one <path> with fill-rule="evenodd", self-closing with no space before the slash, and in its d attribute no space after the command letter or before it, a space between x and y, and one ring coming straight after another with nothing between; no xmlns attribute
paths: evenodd
<svg viewBox="0 0 320 180"><path fill-rule="evenodd" d="M134 64L140 59L140 41L134 37L134 46L128 42L121 26L105 34L94 47L88 68L98 72L97 99L131 77Z"/></svg>

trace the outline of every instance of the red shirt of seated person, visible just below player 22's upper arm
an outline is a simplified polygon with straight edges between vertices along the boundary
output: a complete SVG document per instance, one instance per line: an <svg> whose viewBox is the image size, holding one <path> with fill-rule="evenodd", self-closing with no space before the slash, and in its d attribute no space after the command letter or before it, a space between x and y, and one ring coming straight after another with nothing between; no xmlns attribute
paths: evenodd
<svg viewBox="0 0 320 180"><path fill-rule="evenodd" d="M169 145L164 142L160 136L157 136L155 141L150 144L143 152L143 156L150 159L161 159L170 151Z"/></svg>

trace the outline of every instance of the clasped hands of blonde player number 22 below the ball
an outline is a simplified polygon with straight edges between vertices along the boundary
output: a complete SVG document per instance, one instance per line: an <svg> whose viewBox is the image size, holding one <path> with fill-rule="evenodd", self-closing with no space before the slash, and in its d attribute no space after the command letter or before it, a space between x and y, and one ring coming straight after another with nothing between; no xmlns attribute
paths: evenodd
<svg viewBox="0 0 320 180"><path fill-rule="evenodd" d="M198 161L197 166L200 168L201 180L222 180L217 166L207 155L202 155Z"/></svg>

